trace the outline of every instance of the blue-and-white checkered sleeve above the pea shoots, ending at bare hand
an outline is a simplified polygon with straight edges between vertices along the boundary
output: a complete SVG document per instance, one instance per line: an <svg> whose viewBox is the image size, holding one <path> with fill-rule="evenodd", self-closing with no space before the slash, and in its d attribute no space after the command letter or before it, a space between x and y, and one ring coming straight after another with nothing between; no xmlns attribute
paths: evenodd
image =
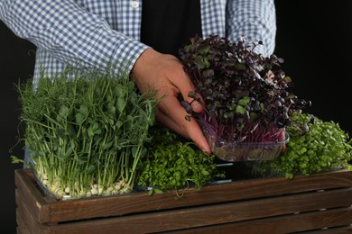
<svg viewBox="0 0 352 234"><path fill-rule="evenodd" d="M2 0L0 19L63 64L131 70L147 48L74 1Z"/></svg>

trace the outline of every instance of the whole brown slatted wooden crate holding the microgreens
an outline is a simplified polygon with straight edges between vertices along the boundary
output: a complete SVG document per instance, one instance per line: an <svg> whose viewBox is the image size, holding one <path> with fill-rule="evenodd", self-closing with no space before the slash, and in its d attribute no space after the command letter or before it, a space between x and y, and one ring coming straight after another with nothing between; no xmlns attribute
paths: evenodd
<svg viewBox="0 0 352 234"><path fill-rule="evenodd" d="M352 171L256 178L148 196L73 201L44 197L15 171L18 233L349 233ZM337 232L338 231L338 232Z"/></svg>

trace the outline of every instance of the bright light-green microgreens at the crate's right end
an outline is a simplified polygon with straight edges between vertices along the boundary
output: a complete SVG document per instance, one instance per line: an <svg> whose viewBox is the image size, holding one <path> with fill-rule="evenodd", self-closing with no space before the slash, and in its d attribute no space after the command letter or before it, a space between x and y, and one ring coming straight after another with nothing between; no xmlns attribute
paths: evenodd
<svg viewBox="0 0 352 234"><path fill-rule="evenodd" d="M352 160L352 139L334 121L296 113L287 131L290 142L286 150L273 161L263 162L264 171L271 168L292 178L347 166Z"/></svg>

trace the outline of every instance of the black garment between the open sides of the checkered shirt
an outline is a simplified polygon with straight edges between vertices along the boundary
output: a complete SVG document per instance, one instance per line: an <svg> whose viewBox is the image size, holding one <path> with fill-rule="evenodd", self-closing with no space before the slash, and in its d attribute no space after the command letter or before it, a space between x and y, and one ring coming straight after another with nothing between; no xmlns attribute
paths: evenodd
<svg viewBox="0 0 352 234"><path fill-rule="evenodd" d="M199 0L144 0L141 41L153 49L179 57L178 50L201 35Z"/></svg>

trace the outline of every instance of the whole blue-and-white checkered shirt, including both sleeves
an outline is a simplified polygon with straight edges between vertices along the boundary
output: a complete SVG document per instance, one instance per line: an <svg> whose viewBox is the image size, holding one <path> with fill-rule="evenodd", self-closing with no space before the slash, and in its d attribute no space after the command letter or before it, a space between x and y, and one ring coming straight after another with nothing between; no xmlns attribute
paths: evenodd
<svg viewBox="0 0 352 234"><path fill-rule="evenodd" d="M200 0L203 36L263 40L257 52L273 53L273 0ZM129 72L148 46L141 43L142 0L0 0L0 19L37 47L34 83L70 64Z"/></svg>

